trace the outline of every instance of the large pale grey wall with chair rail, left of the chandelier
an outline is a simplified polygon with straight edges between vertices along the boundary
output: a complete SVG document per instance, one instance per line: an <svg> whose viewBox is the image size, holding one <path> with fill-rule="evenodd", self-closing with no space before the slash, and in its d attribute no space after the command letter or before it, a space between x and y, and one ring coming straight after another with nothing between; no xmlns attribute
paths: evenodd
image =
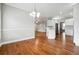
<svg viewBox="0 0 79 59"><path fill-rule="evenodd" d="M3 43L34 38L34 26L34 19L24 10L3 5Z"/></svg>

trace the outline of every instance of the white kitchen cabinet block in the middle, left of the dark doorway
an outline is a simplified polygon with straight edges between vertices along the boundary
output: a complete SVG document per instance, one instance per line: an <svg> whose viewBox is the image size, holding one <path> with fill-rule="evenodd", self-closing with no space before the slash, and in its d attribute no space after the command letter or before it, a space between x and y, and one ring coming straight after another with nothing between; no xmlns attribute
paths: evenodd
<svg viewBox="0 0 79 59"><path fill-rule="evenodd" d="M55 22L54 20L47 21L46 35L48 39L55 39Z"/></svg>

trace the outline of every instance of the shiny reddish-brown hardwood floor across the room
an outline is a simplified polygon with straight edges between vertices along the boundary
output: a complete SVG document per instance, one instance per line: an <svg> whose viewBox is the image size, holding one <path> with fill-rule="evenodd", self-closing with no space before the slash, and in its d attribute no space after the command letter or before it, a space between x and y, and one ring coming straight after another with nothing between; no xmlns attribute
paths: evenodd
<svg viewBox="0 0 79 59"><path fill-rule="evenodd" d="M79 47L73 44L72 39L63 39L58 35L56 39L47 39L45 33L36 32L36 39L24 40L3 45L1 55L74 55L79 54Z"/></svg>

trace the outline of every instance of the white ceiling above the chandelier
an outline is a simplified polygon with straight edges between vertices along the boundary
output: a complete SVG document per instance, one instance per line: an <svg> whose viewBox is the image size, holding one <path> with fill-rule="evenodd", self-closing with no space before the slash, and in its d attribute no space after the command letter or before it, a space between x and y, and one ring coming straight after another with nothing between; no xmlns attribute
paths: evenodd
<svg viewBox="0 0 79 59"><path fill-rule="evenodd" d="M36 6L36 10L45 17L54 17L60 15L60 12L69 13L72 10L72 3L6 3L6 5L23 9L27 13L32 12Z"/></svg>

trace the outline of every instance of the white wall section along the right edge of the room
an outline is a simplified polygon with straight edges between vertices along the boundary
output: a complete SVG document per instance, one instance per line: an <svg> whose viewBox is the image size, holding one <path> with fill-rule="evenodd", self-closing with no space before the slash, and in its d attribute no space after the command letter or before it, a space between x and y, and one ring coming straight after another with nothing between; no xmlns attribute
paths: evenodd
<svg viewBox="0 0 79 59"><path fill-rule="evenodd" d="M79 46L79 4L74 6L74 42Z"/></svg>

